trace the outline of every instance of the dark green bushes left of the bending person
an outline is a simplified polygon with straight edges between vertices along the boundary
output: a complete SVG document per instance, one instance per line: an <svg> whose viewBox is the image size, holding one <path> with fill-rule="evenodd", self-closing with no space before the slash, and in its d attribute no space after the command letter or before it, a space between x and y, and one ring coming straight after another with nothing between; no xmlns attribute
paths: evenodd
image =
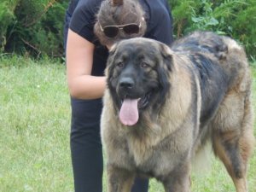
<svg viewBox="0 0 256 192"><path fill-rule="evenodd" d="M9 2L9 3L7 3ZM29 55L61 56L68 0L16 0L0 3L1 49ZM11 6L11 4L13 6ZM0 7L0 10L1 7ZM1 12L0 12L1 13ZM6 20L5 18L9 18Z"/></svg>

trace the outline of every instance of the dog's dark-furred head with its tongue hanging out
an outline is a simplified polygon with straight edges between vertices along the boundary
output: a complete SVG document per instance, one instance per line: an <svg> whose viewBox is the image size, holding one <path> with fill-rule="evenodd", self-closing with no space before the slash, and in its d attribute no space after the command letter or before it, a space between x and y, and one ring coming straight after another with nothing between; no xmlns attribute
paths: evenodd
<svg viewBox="0 0 256 192"><path fill-rule="evenodd" d="M106 69L108 89L124 125L136 125L144 111L158 113L170 89L172 51L147 38L113 45Z"/></svg>

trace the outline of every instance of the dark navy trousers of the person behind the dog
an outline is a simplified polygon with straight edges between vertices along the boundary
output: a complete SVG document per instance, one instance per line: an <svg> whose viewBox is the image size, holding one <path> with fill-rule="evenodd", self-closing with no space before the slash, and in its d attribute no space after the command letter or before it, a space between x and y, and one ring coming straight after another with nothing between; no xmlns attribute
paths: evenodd
<svg viewBox="0 0 256 192"><path fill-rule="evenodd" d="M71 99L71 154L76 192L102 192L102 100ZM133 192L147 192L148 179L137 178Z"/></svg>

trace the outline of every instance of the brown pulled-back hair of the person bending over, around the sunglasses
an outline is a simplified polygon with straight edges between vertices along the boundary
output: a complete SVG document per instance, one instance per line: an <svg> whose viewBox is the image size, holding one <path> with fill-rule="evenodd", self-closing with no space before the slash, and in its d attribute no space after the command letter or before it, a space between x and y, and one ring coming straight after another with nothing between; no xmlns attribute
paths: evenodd
<svg viewBox="0 0 256 192"><path fill-rule="evenodd" d="M104 0L96 15L97 21L94 26L94 32L103 45L111 45L125 38L142 37L147 27L143 17L143 8L137 0ZM101 26L119 26L130 23L141 24L138 33L127 35L121 31L116 37L108 38L101 30Z"/></svg>

